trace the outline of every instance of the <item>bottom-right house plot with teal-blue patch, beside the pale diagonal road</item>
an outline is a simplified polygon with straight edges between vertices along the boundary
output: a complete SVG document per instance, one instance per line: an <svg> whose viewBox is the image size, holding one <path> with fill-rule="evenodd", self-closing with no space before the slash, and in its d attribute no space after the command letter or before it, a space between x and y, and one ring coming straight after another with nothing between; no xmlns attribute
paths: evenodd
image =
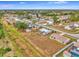
<svg viewBox="0 0 79 59"><path fill-rule="evenodd" d="M66 53L65 51L67 51L68 53ZM74 42L73 45L65 51L63 52L63 56L79 57L79 40L77 42Z"/></svg>

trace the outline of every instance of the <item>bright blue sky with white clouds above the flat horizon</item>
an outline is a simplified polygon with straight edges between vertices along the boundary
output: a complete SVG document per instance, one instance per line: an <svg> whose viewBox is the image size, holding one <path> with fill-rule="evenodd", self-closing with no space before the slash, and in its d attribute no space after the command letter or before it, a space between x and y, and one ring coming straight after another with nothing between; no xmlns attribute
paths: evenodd
<svg viewBox="0 0 79 59"><path fill-rule="evenodd" d="M2 9L79 9L79 1L0 1Z"/></svg>

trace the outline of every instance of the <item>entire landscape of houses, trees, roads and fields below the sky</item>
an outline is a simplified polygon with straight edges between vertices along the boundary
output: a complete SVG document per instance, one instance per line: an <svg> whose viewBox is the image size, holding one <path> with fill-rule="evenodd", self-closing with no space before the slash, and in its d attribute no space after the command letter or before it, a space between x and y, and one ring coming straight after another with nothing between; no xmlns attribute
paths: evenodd
<svg viewBox="0 0 79 59"><path fill-rule="evenodd" d="M0 56L79 57L79 11L0 10L0 13L0 37L3 36Z"/></svg>

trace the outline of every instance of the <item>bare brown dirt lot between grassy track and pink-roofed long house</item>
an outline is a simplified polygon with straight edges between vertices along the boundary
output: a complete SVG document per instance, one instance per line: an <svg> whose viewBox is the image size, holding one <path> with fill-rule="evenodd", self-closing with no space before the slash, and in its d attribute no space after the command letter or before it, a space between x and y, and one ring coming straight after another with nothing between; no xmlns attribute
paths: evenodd
<svg viewBox="0 0 79 59"><path fill-rule="evenodd" d="M58 50L64 47L63 44L49 39L38 32L22 32L39 50L42 50L46 56L52 56Z"/></svg>

